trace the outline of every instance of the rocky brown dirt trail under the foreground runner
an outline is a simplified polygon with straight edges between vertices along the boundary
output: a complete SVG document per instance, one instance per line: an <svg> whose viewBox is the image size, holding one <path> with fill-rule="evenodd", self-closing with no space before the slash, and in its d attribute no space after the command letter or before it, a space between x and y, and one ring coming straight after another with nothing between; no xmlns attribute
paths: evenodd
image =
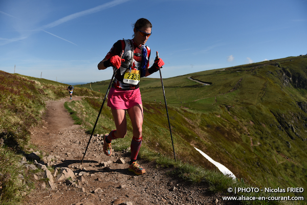
<svg viewBox="0 0 307 205"><path fill-rule="evenodd" d="M30 149L32 153L21 163L42 171L31 174L35 190L25 194L23 204L238 204L223 201L220 194L210 194L204 184L192 185L171 176L171 168L161 168L154 162L139 160L147 173L134 175L127 169L128 150L112 156L103 153L103 133L93 136L80 165L90 135L74 125L63 106L69 100L49 102L43 126L31 131L31 144L40 152ZM29 163L31 159L34 164ZM54 167L55 171L46 167Z"/></svg>

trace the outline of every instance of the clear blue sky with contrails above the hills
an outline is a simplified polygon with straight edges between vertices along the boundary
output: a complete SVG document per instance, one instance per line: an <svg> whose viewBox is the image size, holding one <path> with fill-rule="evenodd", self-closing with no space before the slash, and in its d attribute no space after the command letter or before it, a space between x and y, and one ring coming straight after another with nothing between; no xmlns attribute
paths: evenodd
<svg viewBox="0 0 307 205"><path fill-rule="evenodd" d="M1 0L0 70L68 84L111 79L97 64L142 17L163 78L307 54L307 0Z"/></svg>

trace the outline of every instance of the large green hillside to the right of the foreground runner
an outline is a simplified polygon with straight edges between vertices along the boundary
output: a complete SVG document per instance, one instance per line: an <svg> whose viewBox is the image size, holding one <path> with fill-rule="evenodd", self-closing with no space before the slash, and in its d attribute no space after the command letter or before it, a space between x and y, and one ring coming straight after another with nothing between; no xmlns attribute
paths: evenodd
<svg viewBox="0 0 307 205"><path fill-rule="evenodd" d="M255 186L307 188L306 74L299 56L164 79L177 157L214 169L195 146ZM108 83L92 88L103 93ZM147 145L171 157L161 81L140 87Z"/></svg>

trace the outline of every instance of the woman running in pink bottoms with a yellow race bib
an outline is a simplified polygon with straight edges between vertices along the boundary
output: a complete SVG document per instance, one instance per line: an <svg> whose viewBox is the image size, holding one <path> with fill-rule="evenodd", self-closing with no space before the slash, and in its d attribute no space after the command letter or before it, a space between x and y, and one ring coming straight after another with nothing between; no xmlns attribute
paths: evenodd
<svg viewBox="0 0 307 205"><path fill-rule="evenodd" d="M113 66L116 70L115 80L108 94L107 106L111 107L116 126L103 136L103 151L106 155L112 155L111 142L117 138L124 138L127 132L126 110L133 126L133 138L131 141L131 160L129 171L137 175L146 171L137 163L137 156L142 144L143 106L139 82L141 77L149 76L159 71L164 65L161 58L149 67L150 49L145 45L151 35L152 25L149 20L140 18L134 25L134 38L130 40L118 40L105 58L98 64L99 70ZM158 53L157 53L158 54Z"/></svg>

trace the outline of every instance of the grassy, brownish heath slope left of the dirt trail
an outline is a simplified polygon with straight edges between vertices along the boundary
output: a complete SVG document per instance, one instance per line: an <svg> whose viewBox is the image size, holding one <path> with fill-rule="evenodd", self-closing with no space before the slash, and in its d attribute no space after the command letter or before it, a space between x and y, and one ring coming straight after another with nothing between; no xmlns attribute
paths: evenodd
<svg viewBox="0 0 307 205"><path fill-rule="evenodd" d="M31 147L30 129L38 125L47 100L68 96L68 85L0 71L0 204L19 204L33 188L30 170L19 162ZM75 94L100 97L86 88Z"/></svg>

